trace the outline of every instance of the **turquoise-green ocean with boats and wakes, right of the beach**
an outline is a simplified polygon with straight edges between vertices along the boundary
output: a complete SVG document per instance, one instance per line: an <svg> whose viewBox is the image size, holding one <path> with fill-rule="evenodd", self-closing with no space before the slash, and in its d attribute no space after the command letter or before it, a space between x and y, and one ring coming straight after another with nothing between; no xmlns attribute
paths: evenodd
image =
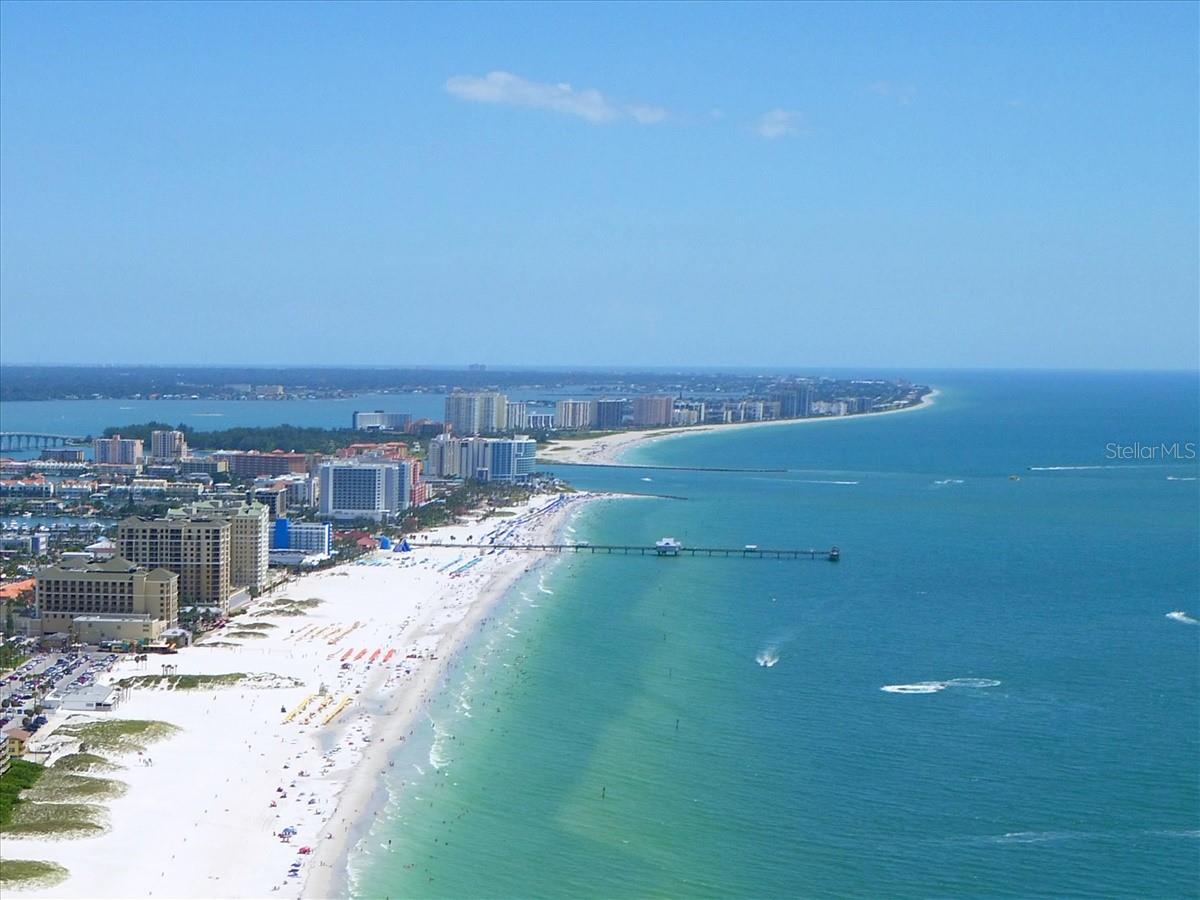
<svg viewBox="0 0 1200 900"><path fill-rule="evenodd" d="M841 562L536 566L396 749L348 893L1194 896L1195 374L922 377L925 410L630 457L786 472L560 468L686 498L568 538Z"/></svg>

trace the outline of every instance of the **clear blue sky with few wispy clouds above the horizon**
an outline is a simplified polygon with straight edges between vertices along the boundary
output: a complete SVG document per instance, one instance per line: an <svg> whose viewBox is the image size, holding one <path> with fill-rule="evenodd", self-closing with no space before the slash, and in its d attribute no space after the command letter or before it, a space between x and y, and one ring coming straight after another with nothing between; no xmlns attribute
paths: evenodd
<svg viewBox="0 0 1200 900"><path fill-rule="evenodd" d="M1195 4L0 4L0 361L1200 367Z"/></svg>

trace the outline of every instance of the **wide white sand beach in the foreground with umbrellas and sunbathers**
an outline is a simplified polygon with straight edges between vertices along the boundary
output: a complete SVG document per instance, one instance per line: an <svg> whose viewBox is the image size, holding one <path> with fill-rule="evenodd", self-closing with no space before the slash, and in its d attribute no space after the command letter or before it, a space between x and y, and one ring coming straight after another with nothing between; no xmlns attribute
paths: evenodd
<svg viewBox="0 0 1200 900"><path fill-rule="evenodd" d="M510 517L422 538L546 541L595 497L540 496ZM160 674L168 664L180 674L272 673L296 686L134 688L114 713L56 714L40 743L53 745L54 728L67 720L154 719L181 731L116 760L124 768L108 776L128 791L106 804L110 827L101 836L5 836L6 859L48 860L70 871L53 887L6 887L5 894L338 894L348 844L388 754L410 733L455 650L535 562L518 551L379 551L259 598L196 647L140 664L122 660L108 678ZM284 596L322 602L302 616L274 614L270 604ZM245 634L246 623L275 628L260 629L266 636L257 640L229 636ZM61 751L73 749L65 744ZM288 841L278 836L286 828L295 829ZM289 876L294 863L299 874Z"/></svg>

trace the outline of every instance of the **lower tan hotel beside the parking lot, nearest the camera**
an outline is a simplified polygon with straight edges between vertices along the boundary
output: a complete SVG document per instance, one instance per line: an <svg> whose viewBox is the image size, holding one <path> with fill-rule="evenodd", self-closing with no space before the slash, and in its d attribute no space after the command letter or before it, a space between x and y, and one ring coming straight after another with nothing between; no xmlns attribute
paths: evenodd
<svg viewBox="0 0 1200 900"><path fill-rule="evenodd" d="M42 569L34 596L42 634L86 643L154 641L179 622L179 576L120 557Z"/></svg>

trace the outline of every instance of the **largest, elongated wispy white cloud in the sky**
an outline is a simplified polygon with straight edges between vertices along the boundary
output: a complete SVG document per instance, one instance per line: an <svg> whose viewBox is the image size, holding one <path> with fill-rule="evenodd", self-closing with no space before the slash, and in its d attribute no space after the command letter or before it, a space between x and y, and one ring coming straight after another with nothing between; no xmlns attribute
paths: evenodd
<svg viewBox="0 0 1200 900"><path fill-rule="evenodd" d="M511 72L488 72L482 78L454 76L446 80L445 89L460 100L475 103L550 109L598 124L631 119L640 125L654 125L667 118L662 107L644 103L622 106L595 89L576 90L565 83L530 82Z"/></svg>

